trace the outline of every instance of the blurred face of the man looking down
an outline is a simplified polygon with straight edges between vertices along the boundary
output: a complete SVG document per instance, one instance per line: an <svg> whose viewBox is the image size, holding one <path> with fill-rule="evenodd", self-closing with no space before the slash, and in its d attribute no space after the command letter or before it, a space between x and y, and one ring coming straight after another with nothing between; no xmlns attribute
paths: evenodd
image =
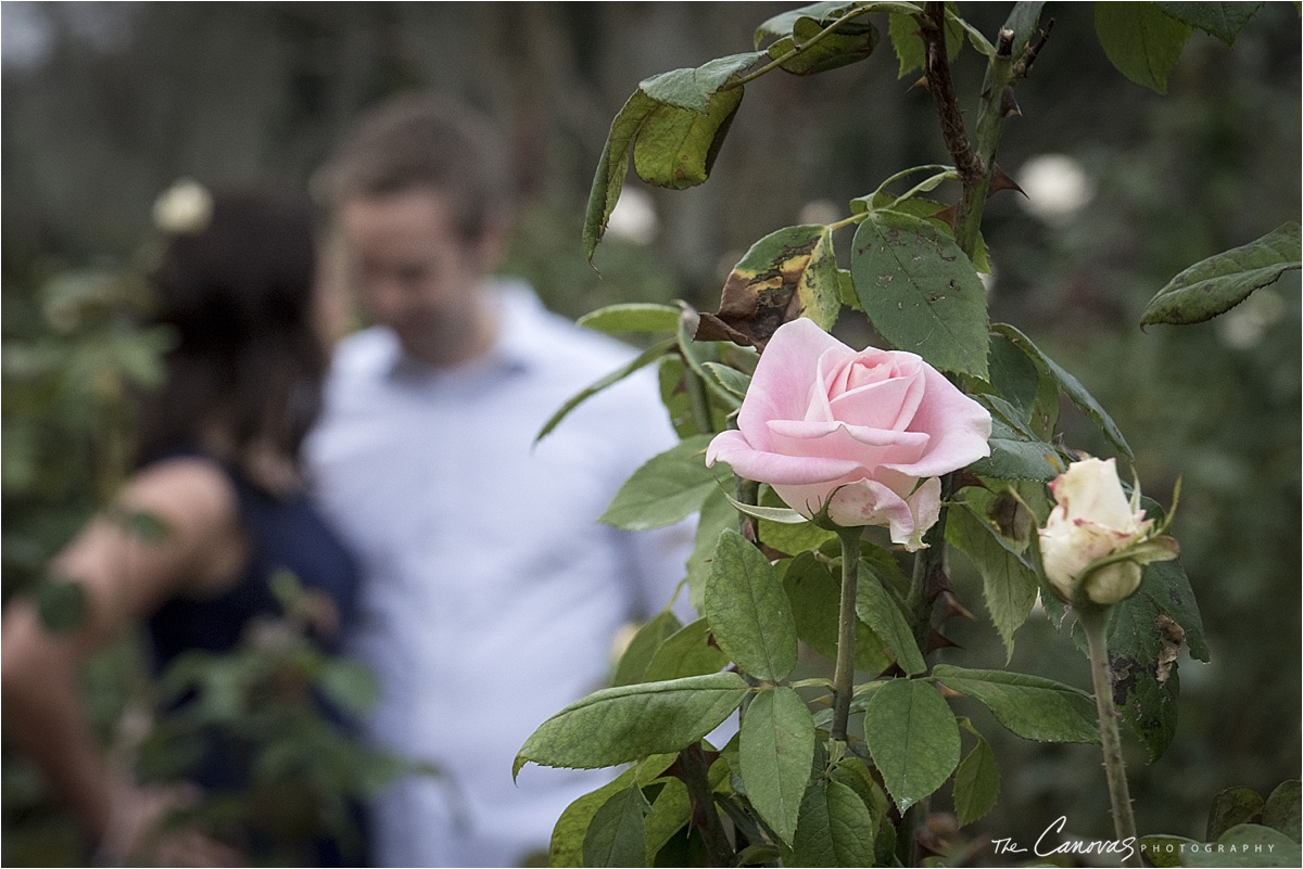
<svg viewBox="0 0 1303 869"><path fill-rule="evenodd" d="M443 359L474 320L487 245L457 232L434 190L348 199L340 225L367 312L413 356Z"/></svg>

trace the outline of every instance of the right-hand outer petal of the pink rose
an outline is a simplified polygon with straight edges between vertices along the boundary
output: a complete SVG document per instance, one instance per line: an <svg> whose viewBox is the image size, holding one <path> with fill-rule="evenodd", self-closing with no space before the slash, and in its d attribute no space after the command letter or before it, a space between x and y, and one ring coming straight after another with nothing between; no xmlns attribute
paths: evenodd
<svg viewBox="0 0 1303 869"><path fill-rule="evenodd" d="M929 477L958 471L990 455L990 414L932 366L924 366L926 392L909 431L932 434L928 451L909 463L883 467L912 477Z"/></svg>

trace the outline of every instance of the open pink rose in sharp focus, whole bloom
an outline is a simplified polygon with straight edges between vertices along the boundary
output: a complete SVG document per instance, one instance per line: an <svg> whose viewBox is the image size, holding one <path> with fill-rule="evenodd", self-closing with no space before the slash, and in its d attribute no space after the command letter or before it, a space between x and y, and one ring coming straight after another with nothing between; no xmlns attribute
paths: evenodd
<svg viewBox="0 0 1303 869"><path fill-rule="evenodd" d="M774 492L801 515L887 526L913 552L941 515L941 474L990 455L990 414L912 353L856 353L801 317L774 332L737 429L706 464Z"/></svg>

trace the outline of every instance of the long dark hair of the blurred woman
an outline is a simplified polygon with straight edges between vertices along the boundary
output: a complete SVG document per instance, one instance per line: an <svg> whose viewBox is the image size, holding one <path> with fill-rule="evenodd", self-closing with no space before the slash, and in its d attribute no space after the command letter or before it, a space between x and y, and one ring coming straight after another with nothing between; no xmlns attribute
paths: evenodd
<svg viewBox="0 0 1303 869"><path fill-rule="evenodd" d="M255 444L297 461L321 407L326 353L314 329L314 226L306 195L219 191L206 224L167 239L150 274L154 323L179 343L167 382L142 397L137 461L198 446L218 428L236 463Z"/></svg>

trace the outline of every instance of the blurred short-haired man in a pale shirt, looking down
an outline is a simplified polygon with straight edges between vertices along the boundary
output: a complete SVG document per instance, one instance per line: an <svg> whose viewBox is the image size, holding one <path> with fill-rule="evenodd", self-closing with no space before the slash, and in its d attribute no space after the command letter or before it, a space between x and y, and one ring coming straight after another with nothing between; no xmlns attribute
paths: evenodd
<svg viewBox="0 0 1303 869"><path fill-rule="evenodd" d="M663 608L687 532L595 523L620 483L674 441L654 381L580 406L622 345L489 278L512 207L493 127L425 98L362 120L328 170L361 302L309 455L321 501L364 566L354 648L380 679L375 742L438 777L373 810L380 865L516 865L546 849L589 774L526 768L543 719L599 687L612 634ZM683 595L681 597L685 597Z"/></svg>

